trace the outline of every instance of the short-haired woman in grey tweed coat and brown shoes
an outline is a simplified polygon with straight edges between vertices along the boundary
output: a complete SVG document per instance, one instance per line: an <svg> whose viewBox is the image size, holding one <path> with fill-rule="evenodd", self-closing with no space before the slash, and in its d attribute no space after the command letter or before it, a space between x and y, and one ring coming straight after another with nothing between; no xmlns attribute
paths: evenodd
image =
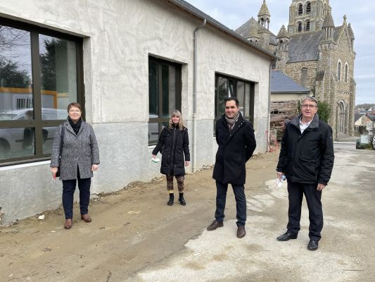
<svg viewBox="0 0 375 282"><path fill-rule="evenodd" d="M56 178L60 166L60 180L63 180L63 207L65 212L65 229L72 228L73 195L78 180L80 189L81 219L91 222L88 214L90 186L93 171L98 169L99 150L94 130L91 125L82 121L82 109L78 103L68 105L68 119L56 129L51 152L51 172ZM61 134L63 149L59 162Z"/></svg>

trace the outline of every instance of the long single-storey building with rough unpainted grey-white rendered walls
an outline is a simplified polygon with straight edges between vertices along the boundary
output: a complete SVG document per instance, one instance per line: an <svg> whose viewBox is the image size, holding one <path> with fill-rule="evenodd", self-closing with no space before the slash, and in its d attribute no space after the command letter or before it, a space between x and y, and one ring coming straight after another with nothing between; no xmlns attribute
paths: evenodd
<svg viewBox="0 0 375 282"><path fill-rule="evenodd" d="M229 96L253 121L256 152L267 150L269 65L276 56L186 1L1 1L0 25L0 73L13 74L0 78L2 109L32 108L30 118L0 120L10 140L25 139L12 136L14 129L30 137L27 149L0 140L2 223L61 204L44 135L63 119L42 109L82 104L100 150L93 193L160 176L151 152L174 109L189 128L188 172L214 164L214 123ZM54 94L53 103L44 93Z"/></svg>

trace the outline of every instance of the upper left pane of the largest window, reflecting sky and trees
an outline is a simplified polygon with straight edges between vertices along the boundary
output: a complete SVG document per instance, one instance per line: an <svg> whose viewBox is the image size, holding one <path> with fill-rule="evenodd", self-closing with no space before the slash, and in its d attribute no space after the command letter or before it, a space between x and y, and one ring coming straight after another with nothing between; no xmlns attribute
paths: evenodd
<svg viewBox="0 0 375 282"><path fill-rule="evenodd" d="M32 109L30 32L0 25L0 120Z"/></svg>

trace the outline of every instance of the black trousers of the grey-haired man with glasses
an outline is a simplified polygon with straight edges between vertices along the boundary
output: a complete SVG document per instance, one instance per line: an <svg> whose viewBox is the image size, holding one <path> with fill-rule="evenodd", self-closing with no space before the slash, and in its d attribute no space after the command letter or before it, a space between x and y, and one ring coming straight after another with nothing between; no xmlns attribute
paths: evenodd
<svg viewBox="0 0 375 282"><path fill-rule="evenodd" d="M293 234L300 231L300 217L303 194L305 194L309 209L309 237L320 240L323 228L322 191L317 190L317 184L294 183L288 181L288 225L286 228Z"/></svg>

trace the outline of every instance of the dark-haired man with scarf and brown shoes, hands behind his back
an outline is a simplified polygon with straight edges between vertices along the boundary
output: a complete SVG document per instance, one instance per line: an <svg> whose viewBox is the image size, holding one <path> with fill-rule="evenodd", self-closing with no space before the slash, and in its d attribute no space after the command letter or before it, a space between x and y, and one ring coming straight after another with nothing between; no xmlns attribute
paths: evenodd
<svg viewBox="0 0 375 282"><path fill-rule="evenodd" d="M239 111L239 100L229 97L225 100L225 114L216 123L216 142L219 145L213 178L216 180L215 221L208 226L213 231L223 226L228 183L234 191L237 209L237 237L246 235L246 161L256 147L253 125L245 121Z"/></svg>

